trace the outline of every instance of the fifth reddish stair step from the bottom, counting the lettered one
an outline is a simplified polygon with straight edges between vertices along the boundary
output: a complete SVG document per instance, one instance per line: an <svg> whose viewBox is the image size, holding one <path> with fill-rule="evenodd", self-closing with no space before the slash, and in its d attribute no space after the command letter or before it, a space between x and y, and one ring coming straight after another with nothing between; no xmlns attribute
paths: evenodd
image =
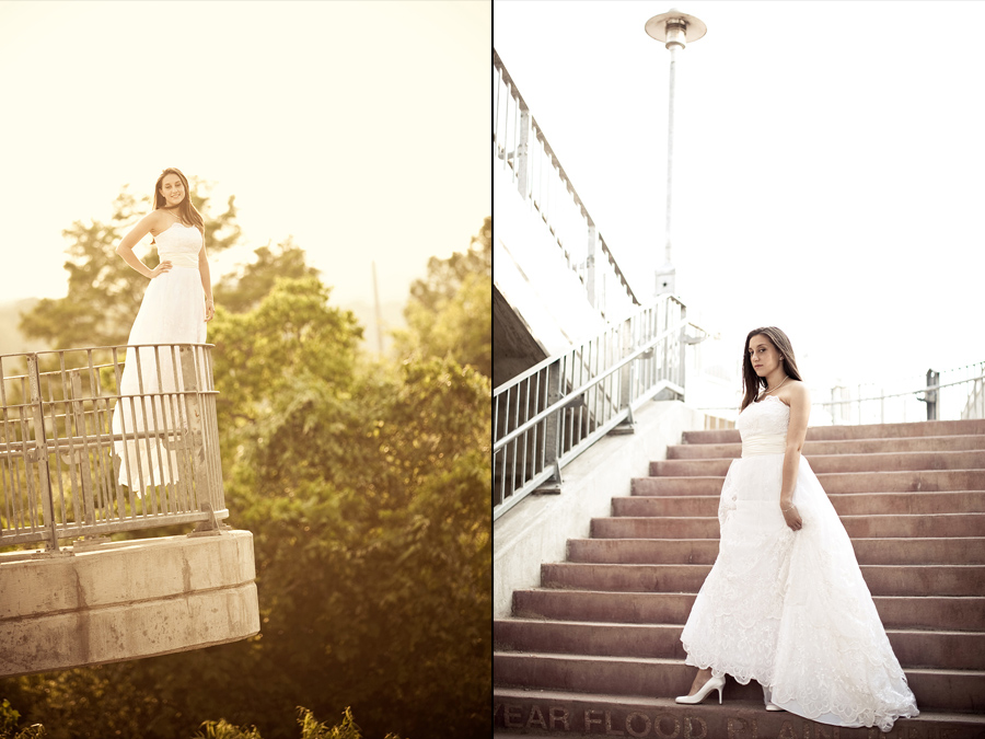
<svg viewBox="0 0 985 739"><path fill-rule="evenodd" d="M545 588L613 592L697 592L711 565L623 565L564 562L541 565ZM873 596L983 594L985 565L864 565Z"/></svg>

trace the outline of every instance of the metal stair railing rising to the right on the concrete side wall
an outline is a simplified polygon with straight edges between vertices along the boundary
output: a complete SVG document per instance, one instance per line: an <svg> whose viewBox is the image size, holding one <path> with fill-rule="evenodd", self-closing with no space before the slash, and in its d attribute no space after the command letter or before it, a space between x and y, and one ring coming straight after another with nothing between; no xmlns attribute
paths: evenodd
<svg viewBox="0 0 985 739"><path fill-rule="evenodd" d="M493 518L661 391L684 395L686 308L662 296L493 391Z"/></svg>

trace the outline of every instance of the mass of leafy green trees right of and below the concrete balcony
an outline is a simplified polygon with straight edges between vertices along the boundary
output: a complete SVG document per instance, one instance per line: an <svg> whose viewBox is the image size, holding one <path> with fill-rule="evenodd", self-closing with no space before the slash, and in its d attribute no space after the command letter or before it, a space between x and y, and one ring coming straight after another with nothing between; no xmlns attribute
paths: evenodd
<svg viewBox="0 0 985 739"><path fill-rule="evenodd" d="M254 534L260 634L0 694L51 739L293 739L298 705L303 739L360 737L352 713L368 737L488 736L490 385L468 302L488 290L482 254L432 261L399 362L360 354L355 316L290 240L223 279L209 330L222 465L229 522ZM337 727L313 717L344 709Z"/></svg>

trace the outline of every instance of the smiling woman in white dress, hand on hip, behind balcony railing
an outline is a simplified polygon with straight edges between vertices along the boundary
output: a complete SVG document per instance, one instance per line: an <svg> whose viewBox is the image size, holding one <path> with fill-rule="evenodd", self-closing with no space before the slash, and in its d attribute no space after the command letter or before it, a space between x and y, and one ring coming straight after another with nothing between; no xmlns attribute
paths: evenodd
<svg viewBox="0 0 985 739"><path fill-rule="evenodd" d="M161 259L153 269L134 253L148 233ZM152 402L134 396L174 393L183 390L184 383L176 350L141 348L138 365L134 345L204 344L206 324L215 312L204 221L192 205L188 180L179 170L167 168L161 173L154 185L153 210L123 238L116 253L150 280L127 339L130 348L119 382L121 399L112 424L114 435L132 435L114 442L119 482L142 495L148 486L170 484L179 476L177 459L164 438L143 431L173 428L175 411L181 411L174 395L152 395Z"/></svg>

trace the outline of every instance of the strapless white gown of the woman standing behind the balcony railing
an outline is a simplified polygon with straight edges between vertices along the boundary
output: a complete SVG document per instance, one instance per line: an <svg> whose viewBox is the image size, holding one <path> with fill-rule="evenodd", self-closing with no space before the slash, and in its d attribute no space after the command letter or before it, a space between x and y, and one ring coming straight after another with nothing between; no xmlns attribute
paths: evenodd
<svg viewBox="0 0 985 739"><path fill-rule="evenodd" d="M195 227L175 223L154 236L161 262L171 261L171 272L150 280L140 310L130 328L127 344L205 344L205 292L198 270L201 232ZM184 389L181 357L175 349L159 349L159 362L152 348L127 349L127 362L119 383L120 395L174 393ZM172 357L172 354L174 355ZM148 428L174 428L179 400L158 396L153 402L121 399L113 413L113 432L131 435ZM119 457L119 483L138 495L149 486L178 480L178 460L160 439L137 438L114 442Z"/></svg>

